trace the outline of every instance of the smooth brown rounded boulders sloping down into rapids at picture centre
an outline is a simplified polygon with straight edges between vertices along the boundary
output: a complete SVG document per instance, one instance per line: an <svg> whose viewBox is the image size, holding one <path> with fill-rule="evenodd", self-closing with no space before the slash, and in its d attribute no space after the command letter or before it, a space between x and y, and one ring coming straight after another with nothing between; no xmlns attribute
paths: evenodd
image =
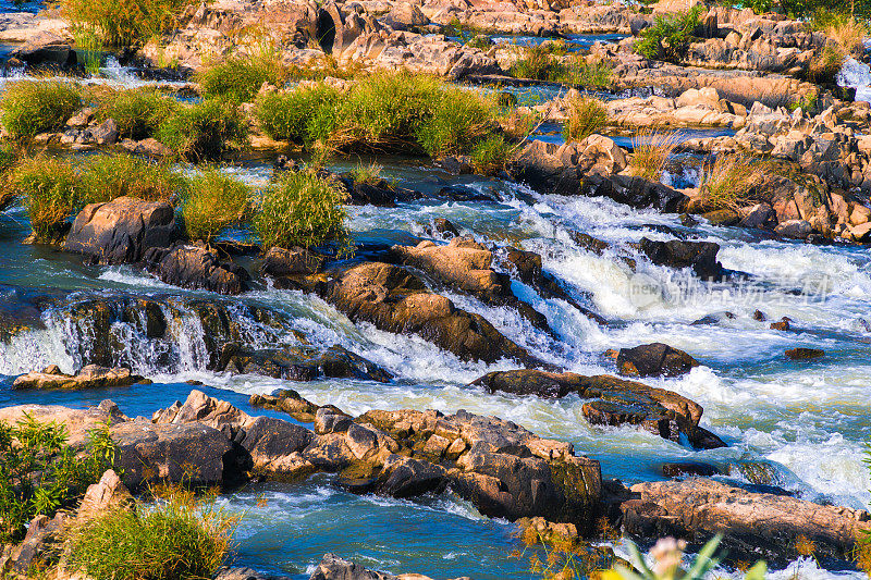
<svg viewBox="0 0 871 580"><path fill-rule="evenodd" d="M331 273L327 280L291 284L317 292L351 320L369 322L388 332L416 334L463 360L494 362L508 358L538 363L483 317L427 291L419 277L397 266L366 262Z"/></svg>

